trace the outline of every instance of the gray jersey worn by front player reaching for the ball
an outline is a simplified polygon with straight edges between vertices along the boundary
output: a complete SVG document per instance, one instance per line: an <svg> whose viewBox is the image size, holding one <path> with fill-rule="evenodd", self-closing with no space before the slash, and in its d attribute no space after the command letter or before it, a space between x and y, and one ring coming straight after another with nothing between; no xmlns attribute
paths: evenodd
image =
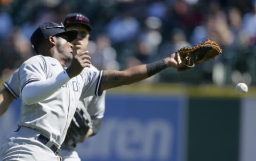
<svg viewBox="0 0 256 161"><path fill-rule="evenodd" d="M56 77L62 71L57 59L42 55L28 59L19 69L21 93L26 84ZM102 73L103 71L83 70L49 98L35 104L25 104L22 101L21 120L18 125L33 128L61 144L81 94L84 97L97 95Z"/></svg>

